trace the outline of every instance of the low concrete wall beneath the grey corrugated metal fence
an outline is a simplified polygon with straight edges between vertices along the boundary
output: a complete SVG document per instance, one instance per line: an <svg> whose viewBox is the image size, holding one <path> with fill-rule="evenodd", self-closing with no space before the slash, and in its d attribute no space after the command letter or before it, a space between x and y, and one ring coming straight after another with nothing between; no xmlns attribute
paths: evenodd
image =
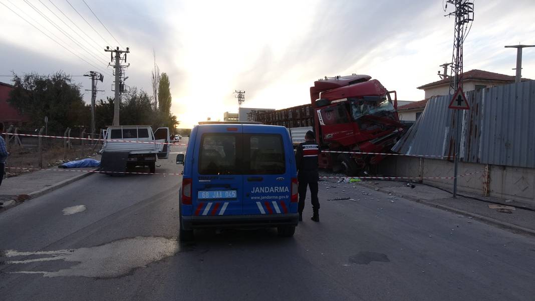
<svg viewBox="0 0 535 301"><path fill-rule="evenodd" d="M460 192L469 191L485 196L485 181L488 181L488 196L501 199L514 199L535 205L535 168L501 165L464 163L459 164L458 177ZM408 156L391 156L378 166L378 173L385 176L410 177L451 177L453 161ZM488 179L486 175L488 174ZM453 179L423 179L429 183L453 190Z"/></svg>

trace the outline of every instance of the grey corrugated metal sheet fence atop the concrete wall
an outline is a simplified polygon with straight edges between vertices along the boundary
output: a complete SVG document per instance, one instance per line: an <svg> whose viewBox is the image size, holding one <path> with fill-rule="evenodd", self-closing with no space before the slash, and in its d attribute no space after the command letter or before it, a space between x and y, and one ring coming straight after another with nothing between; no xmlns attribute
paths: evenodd
<svg viewBox="0 0 535 301"><path fill-rule="evenodd" d="M472 163L535 167L535 81L465 94L469 111L461 113L461 160ZM453 159L454 110L450 96L433 97L393 151Z"/></svg>

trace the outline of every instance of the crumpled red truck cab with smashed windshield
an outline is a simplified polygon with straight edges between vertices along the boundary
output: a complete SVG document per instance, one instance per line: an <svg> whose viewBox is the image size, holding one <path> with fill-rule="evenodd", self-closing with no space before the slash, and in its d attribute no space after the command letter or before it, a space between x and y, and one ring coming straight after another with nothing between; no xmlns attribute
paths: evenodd
<svg viewBox="0 0 535 301"><path fill-rule="evenodd" d="M316 140L323 150L319 167L357 175L378 164L403 134L395 91L369 75L336 76L310 87Z"/></svg>

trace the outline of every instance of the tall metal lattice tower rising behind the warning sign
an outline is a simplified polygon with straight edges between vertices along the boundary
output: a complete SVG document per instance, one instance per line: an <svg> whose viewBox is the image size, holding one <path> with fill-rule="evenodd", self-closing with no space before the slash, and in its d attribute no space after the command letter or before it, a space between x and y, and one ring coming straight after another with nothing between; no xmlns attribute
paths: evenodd
<svg viewBox="0 0 535 301"><path fill-rule="evenodd" d="M468 0L448 0L447 5L453 4L455 11L446 14L446 16L455 16L455 35L453 39L452 66L450 67L450 86L449 94L462 87L463 74L463 43L471 28L473 21L473 3Z"/></svg>

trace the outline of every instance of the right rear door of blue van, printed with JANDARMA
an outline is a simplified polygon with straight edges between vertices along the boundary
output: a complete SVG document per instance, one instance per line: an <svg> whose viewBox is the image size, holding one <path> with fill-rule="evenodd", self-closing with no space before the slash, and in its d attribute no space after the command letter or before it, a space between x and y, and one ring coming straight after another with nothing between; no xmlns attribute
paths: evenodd
<svg viewBox="0 0 535 301"><path fill-rule="evenodd" d="M288 213L292 171L282 133L243 129L243 214ZM284 133L288 135L287 133Z"/></svg>

